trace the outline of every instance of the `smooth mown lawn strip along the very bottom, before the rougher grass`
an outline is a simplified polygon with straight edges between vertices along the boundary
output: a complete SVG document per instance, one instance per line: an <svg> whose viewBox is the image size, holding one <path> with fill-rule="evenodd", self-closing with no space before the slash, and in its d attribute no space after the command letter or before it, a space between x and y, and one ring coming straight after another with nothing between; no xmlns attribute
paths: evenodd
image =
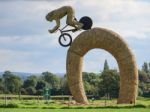
<svg viewBox="0 0 150 112"><path fill-rule="evenodd" d="M0 109L0 112L150 112L150 109Z"/></svg>

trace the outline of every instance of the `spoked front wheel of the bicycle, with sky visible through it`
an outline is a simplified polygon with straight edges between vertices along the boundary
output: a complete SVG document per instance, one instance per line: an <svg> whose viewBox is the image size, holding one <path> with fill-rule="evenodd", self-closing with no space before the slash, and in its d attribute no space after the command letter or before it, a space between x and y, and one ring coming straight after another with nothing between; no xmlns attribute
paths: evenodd
<svg viewBox="0 0 150 112"><path fill-rule="evenodd" d="M68 33L63 33L59 36L58 42L63 47L68 47L72 43L72 37Z"/></svg>

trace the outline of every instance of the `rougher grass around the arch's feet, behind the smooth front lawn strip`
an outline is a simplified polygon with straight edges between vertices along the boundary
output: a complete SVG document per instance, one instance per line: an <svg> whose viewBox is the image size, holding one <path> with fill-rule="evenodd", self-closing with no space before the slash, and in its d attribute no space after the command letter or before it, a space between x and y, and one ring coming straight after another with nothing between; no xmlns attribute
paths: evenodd
<svg viewBox="0 0 150 112"><path fill-rule="evenodd" d="M73 102L73 101L72 101ZM17 100L17 99L9 99L7 100L7 105L13 104L14 108L48 108L48 109L59 109L64 107L150 107L150 98L138 98L137 103L135 105L118 105L117 100L95 100L89 101L89 105L74 105L72 102L68 100L50 100L46 102L45 100ZM0 100L0 107L5 106L5 100Z"/></svg>

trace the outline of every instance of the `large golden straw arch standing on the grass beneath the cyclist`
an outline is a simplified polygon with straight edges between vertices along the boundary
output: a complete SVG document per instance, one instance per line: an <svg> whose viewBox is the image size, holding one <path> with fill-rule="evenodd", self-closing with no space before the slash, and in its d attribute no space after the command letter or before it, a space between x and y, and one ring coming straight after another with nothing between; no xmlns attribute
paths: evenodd
<svg viewBox="0 0 150 112"><path fill-rule="evenodd" d="M135 57L118 34L103 28L93 28L81 33L68 50L67 78L70 91L76 102L88 103L82 82L82 65L84 55L94 48L108 51L118 63L120 71L118 103L135 103L138 87Z"/></svg>

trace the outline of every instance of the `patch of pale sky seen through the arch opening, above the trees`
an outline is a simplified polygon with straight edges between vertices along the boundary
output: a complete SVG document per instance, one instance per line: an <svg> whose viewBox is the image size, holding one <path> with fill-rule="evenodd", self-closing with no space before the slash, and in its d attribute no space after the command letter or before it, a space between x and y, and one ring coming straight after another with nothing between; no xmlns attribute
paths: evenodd
<svg viewBox="0 0 150 112"><path fill-rule="evenodd" d="M105 60L111 69L118 69L117 61L110 53L101 49L93 49L84 57L83 71L97 73L102 71Z"/></svg>

